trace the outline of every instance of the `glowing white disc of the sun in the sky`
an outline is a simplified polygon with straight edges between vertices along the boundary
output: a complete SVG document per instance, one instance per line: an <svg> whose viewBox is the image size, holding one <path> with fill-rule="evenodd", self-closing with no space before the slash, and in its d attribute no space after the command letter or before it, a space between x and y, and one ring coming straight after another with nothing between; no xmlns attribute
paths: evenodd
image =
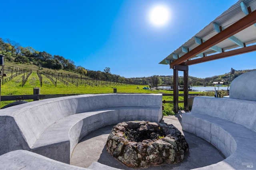
<svg viewBox="0 0 256 170"><path fill-rule="evenodd" d="M149 13L149 20L153 25L163 26L170 18L170 12L166 6L154 6Z"/></svg>

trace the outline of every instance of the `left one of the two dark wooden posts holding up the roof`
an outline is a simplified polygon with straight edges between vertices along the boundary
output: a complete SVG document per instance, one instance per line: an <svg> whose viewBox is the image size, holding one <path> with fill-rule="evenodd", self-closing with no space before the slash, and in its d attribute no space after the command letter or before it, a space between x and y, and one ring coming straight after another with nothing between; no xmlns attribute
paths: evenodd
<svg viewBox="0 0 256 170"><path fill-rule="evenodd" d="M178 89L178 69L173 68L173 109L175 113L178 113L179 89Z"/></svg>

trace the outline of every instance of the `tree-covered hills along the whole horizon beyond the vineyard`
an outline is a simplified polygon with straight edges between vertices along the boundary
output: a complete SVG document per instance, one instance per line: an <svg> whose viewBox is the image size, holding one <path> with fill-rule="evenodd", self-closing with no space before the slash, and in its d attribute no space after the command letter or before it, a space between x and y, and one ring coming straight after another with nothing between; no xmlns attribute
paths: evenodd
<svg viewBox="0 0 256 170"><path fill-rule="evenodd" d="M6 66L16 66L21 68L29 68L39 71L50 72L64 72L66 74L77 74L79 76L85 76L88 78L112 81L118 83L128 84L142 84L148 85L172 85L173 76L151 76L151 77L138 77L138 78L125 78L120 75L111 74L110 68L106 67L103 71L88 70L82 66L76 66L74 61L65 59L62 56L54 55L46 51L37 51L32 47L22 47L19 43L11 41L10 39L3 40L0 38L0 54L5 55ZM254 69L256 70L256 69ZM251 70L237 70L235 74L232 74L231 81ZM189 76L188 83L192 86L214 86L213 82L224 82L224 85L228 84L228 78L230 73L225 73L218 76L212 76L208 78L196 78ZM183 85L183 77L179 77L179 85Z"/></svg>

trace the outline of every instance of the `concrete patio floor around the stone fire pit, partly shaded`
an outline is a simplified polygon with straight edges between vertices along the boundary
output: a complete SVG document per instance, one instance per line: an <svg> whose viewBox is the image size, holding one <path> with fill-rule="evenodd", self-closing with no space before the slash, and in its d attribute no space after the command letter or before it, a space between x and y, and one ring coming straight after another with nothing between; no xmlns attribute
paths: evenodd
<svg viewBox="0 0 256 170"><path fill-rule="evenodd" d="M210 143L191 133L182 131L182 113L185 112L180 111L174 116L164 116L162 122L173 124L185 136L189 146L189 152L185 155L184 160L178 164L162 164L159 166L143 168L143 170L187 170L215 164L224 159L224 156L220 151ZM114 168L124 170L134 169L121 164L106 151L106 141L112 127L113 125L103 127L84 137L80 143L76 145L70 159L70 164L88 168L92 162L99 162Z"/></svg>

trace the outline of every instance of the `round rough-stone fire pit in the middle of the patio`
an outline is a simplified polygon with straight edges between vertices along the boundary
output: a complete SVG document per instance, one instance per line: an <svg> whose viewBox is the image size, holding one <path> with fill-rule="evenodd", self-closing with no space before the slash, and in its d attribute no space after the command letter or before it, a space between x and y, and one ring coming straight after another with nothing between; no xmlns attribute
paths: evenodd
<svg viewBox="0 0 256 170"><path fill-rule="evenodd" d="M175 164L188 152L188 144L176 127L149 121L118 123L110 132L106 148L114 158L132 168Z"/></svg>

